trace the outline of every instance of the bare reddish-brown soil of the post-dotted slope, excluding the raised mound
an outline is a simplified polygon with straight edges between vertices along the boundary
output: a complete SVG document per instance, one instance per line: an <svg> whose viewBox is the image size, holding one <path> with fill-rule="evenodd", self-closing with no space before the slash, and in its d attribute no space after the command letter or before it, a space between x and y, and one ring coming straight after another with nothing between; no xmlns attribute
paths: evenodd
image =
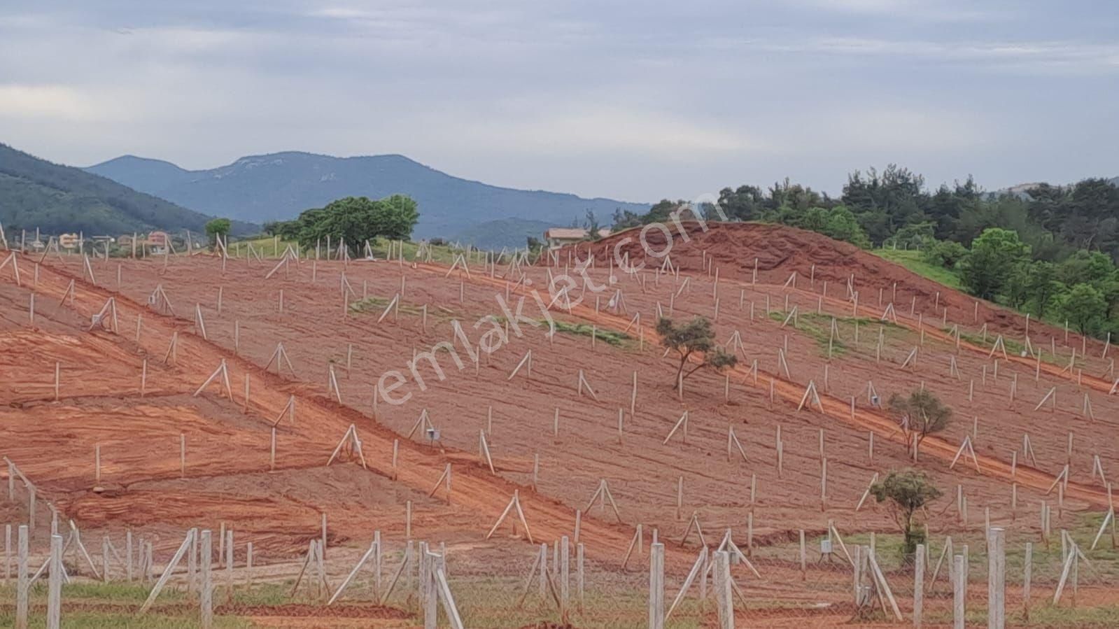
<svg viewBox="0 0 1119 629"><path fill-rule="evenodd" d="M677 248L673 253L676 264L697 257L690 245ZM27 259L21 262L23 269L29 267ZM412 500L413 537L445 538L500 557L479 565L480 574L510 565L520 570L519 560L508 558L532 557L532 548L521 543L523 531L511 536L509 528L502 527L493 539L481 541L515 490L520 492L534 541L572 535L575 510L580 509L581 541L589 557L612 565L620 562L633 527L643 524L646 531L657 527L662 538L673 541L669 563L686 570L697 548L694 534L687 547L680 548L692 513L703 523L708 542L726 527L734 527L740 545L747 514L754 523L755 543L792 541L798 529L812 535L824 531L829 519L845 534L890 531L893 525L885 509L873 504L858 511L854 508L873 475L912 464L896 423L867 404L868 381L883 400L894 392L927 386L957 412L942 435L925 440L916 463L946 490L933 511L948 516L933 518L933 533L960 526L953 505L957 485L972 505L968 523L972 531L981 529L982 508L987 506L993 523L1013 525L1014 531L1032 535L1036 517L1026 514L1034 514L1040 500L1055 500L1045 494L1066 461L1071 459L1072 481L1065 514L1106 505L1102 486L1090 476L1093 454L1099 454L1108 472L1119 466L1119 444L1110 439L1119 428L1116 396L1085 391L1094 383L1078 386L1068 374L1061 376L1047 367L1035 381L1034 365L1015 360L999 360L996 377L986 348L961 344L962 350L957 351L953 342L928 323L920 326L928 337L922 344L914 319L922 313L931 318L931 302L918 301L913 317L908 308L899 308L899 325L885 326L869 316L877 308L875 300L864 300L863 338L855 341L854 322L845 319L850 304L844 299L841 283L831 281L826 295L814 292L817 287L822 292L819 267L815 281L803 270L796 290L781 288L791 271L780 262L756 285L750 281L752 263L744 275L741 267L739 276L722 272L717 287L712 276L699 271L698 262L693 274L684 272L679 279L651 270L641 274L640 281L621 276L614 288L624 290L628 312L595 311L590 293L571 312L561 311L558 304L551 312L558 319L595 325L599 330L630 327L630 338L621 346L598 338L592 347L585 335L563 332L549 339L542 330L529 329L521 338L510 335L507 348L483 356L477 366L467 359L464 368L457 369L450 357L442 358L445 379L425 370L425 389L408 387L405 391L413 396L406 404L382 402L374 411L374 384L382 374L388 369L407 373L413 351L453 338L452 318L461 320L471 342L477 342L479 329L489 328L472 323L486 314L504 316L496 298L504 297L511 282L487 276L477 267L470 276L461 272L448 276L446 267L439 265L326 261L292 263L288 272L264 280L273 264L266 262L231 263L223 274L220 262L210 257L172 259L166 270L154 261L93 261L100 279L94 287L83 280L81 259L50 257L40 267L34 327L27 325L30 291L15 287L7 272L0 273L0 395L8 402L7 407L0 407L2 453L11 456L40 485L41 496L75 517L83 529L120 524L162 526L159 533L166 537L164 546L177 543L176 534L181 539L187 526L217 528L225 522L250 539L294 554L318 534L322 511L329 514L331 546L365 544L373 529L402 539L403 504ZM123 278L120 287L114 279L117 269ZM548 271L555 270L528 270L532 285L546 287ZM344 273L356 293L347 302L367 293L376 298L369 311L344 314ZM589 275L598 283L609 281L601 264ZM317 279L312 281L312 276ZM685 276L690 278L687 287L683 285ZM72 279L78 287L75 303L60 304ZM876 293L875 282L882 281L890 281L888 275L857 280L859 290L867 293ZM402 282L406 291L398 317L389 313L378 321ZM169 294L177 316L143 306L157 284ZM224 288L220 310L219 287ZM281 290L282 313L278 308ZM899 284L900 295L908 294L906 290ZM524 285L510 292L525 293ZM603 304L609 294L600 295ZM87 331L90 316L111 295L117 302L119 334ZM722 298L717 318L713 311L716 295ZM513 298L516 301L516 294ZM715 319L721 341L739 332L745 346L742 363L727 379L697 372L688 379L683 401L670 386L673 359L664 358L655 347L650 329L658 307L673 303L674 298L676 316ZM948 299L960 298L944 290L941 303ZM539 318L530 299L527 303L529 316ZM763 303L771 303L773 314L762 313ZM899 303L905 302L899 299ZM420 314L423 306L429 307L426 326ZM756 317L752 314L754 306L761 311ZM783 327L778 311L793 307L801 313L801 322ZM206 339L194 323L196 308L205 317ZM817 308L821 314L812 314ZM971 317L969 308L966 321ZM636 338L638 328L630 326L637 312L643 313L643 350ZM949 312L949 322L953 312ZM135 321L141 314L137 342ZM839 318L844 349L828 359L819 332L811 326L827 330L830 316ZM991 321L993 335L1013 331L999 326ZM967 331L974 334L975 325ZM164 365L173 332L178 332L178 359ZM874 346L878 334L884 338L881 360ZM264 369L278 341L284 344L294 374L286 368L278 374L274 366ZM778 367L778 347L784 348L789 374ZM918 363L903 368L915 347L920 347ZM352 365L348 365L349 349ZM1070 350L1063 344L1060 349ZM509 374L528 350L534 357L532 374L523 372L510 379ZM1083 362L1083 368L1099 373L1103 365L1098 356ZM149 379L141 397L144 357ZM229 367L233 400L216 385L194 396L223 359ZM958 364L961 377L949 375L950 359ZM758 362L756 377L747 373L753 360ZM58 402L54 401L56 362L62 364L64 383ZM339 382L340 403L327 388L331 369ZM594 396L576 394L580 370L592 384ZM639 396L631 413L634 373ZM242 393L246 376L252 386L247 410ZM1007 400L1012 378L1019 396L1015 403ZM810 379L820 389L822 412L797 411ZM969 381L976 392L974 400L968 393ZM1054 411L1033 410L1054 386L1059 388ZM1085 393L1091 393L1096 421L1080 414ZM292 424L282 419L278 425L278 471L269 473L271 426L292 395L297 420ZM852 398L857 402L854 416ZM619 409L624 421L621 436L617 431ZM496 475L477 456L479 431L488 429L489 410L493 430L487 441ZM561 429L556 436L552 431L557 410ZM431 447L420 435L406 439L422 411L427 411L441 430L441 444ZM678 432L666 442L685 411L690 416L686 439ZM972 423L972 416L979 420ZM364 443L368 472L351 457L341 464L323 467L350 424ZM728 430L741 440L747 460L736 451L727 452ZM784 444L782 472L775 469L778 430ZM1076 435L1071 457L1065 453L1066 430ZM878 436L873 460L867 448L869 433ZM1012 479L1012 452L1019 450L1025 433L1033 441L1037 469L1033 469L1033 460L1019 456ZM180 434L186 434L188 442L186 479L179 478ZM960 441L971 434L980 470L976 471L970 460L949 470ZM821 436L828 458L826 504L819 491ZM394 475L391 452L396 439L401 463ZM105 490L100 492L92 490L94 443L102 444ZM540 461L535 489L529 487L534 456ZM448 463L453 467L450 505L444 503L444 490L436 487ZM3 471L0 469L0 475ZM587 504L602 479L609 481L619 504L621 523L615 523L609 508ZM685 497L677 515L679 479L684 479ZM750 501L751 479L759 487L754 504ZM1017 511L1009 508L1012 482L1019 489ZM630 566L640 561L631 560ZM774 562L763 566L770 580L764 588L772 588L765 595L792 595L799 575L791 565ZM523 567L527 570L527 565ZM838 581L847 579L840 576Z"/></svg>

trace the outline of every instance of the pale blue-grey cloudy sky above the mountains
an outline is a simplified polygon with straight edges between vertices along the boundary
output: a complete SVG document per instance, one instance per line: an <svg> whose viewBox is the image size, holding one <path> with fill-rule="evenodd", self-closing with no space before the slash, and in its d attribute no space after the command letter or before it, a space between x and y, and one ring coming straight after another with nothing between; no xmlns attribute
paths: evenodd
<svg viewBox="0 0 1119 629"><path fill-rule="evenodd" d="M634 201L899 163L1119 176L1113 0L0 4L0 142L91 166L402 153Z"/></svg>

